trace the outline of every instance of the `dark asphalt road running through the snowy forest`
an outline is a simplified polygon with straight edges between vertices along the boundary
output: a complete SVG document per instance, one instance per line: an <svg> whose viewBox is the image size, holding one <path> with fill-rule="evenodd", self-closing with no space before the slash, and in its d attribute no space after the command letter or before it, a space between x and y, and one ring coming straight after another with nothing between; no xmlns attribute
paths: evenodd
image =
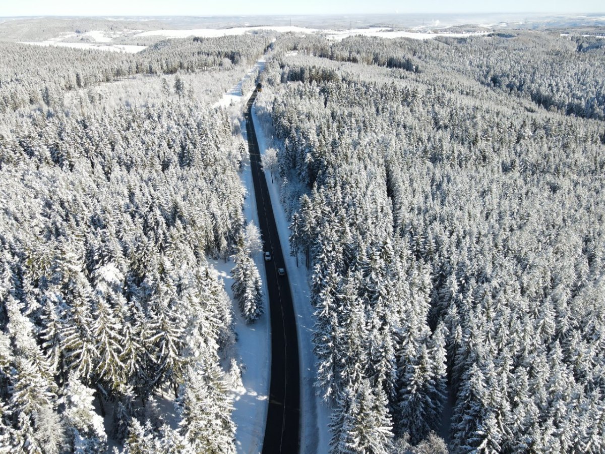
<svg viewBox="0 0 605 454"><path fill-rule="evenodd" d="M298 366L298 338L292 305L292 294L275 216L267 188L267 180L261 169L261 156L257 134L252 123L252 104L257 90L247 102L246 131L252 166L252 180L257 200L258 222L263 235L264 250L272 255L264 262L267 271L267 291L271 309L271 385L269 412L263 442L263 453L293 454L299 448L300 376ZM285 276L278 276L277 269L286 269Z"/></svg>

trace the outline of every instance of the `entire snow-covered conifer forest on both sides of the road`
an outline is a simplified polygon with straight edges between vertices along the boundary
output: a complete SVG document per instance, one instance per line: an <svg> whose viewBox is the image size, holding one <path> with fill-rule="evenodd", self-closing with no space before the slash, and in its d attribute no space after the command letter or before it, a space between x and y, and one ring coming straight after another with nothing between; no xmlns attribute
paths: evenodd
<svg viewBox="0 0 605 454"><path fill-rule="evenodd" d="M233 101L261 70L318 449L605 451L605 39L0 25L0 453L254 449L232 352L267 284ZM59 35L147 47L19 42Z"/></svg>

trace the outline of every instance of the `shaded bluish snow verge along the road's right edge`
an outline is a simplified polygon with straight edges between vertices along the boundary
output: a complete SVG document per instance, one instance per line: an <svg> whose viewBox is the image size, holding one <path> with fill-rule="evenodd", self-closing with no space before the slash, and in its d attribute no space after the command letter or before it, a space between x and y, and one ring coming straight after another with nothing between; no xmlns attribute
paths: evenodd
<svg viewBox="0 0 605 454"><path fill-rule="evenodd" d="M252 108L252 118L257 133L258 146L261 154L264 154L270 144L267 144L263 128L260 127L260 120L256 115L255 107ZM313 318L313 308L309 303L308 272L304 266L304 258L302 262L299 260L297 268L296 258L291 257L289 253L290 228L286 212L284 212L280 203L280 180L277 178L275 183L271 183L270 173L264 172L264 174L267 186L269 186L273 214L275 214L275 222L280 235L281 249L284 252L284 260L286 260L286 272L290 282L296 315L301 371L301 453L324 454L328 452L330 443L328 424L330 423L331 410L322 402L321 398L315 395L314 384L317 369L312 343L315 320Z"/></svg>

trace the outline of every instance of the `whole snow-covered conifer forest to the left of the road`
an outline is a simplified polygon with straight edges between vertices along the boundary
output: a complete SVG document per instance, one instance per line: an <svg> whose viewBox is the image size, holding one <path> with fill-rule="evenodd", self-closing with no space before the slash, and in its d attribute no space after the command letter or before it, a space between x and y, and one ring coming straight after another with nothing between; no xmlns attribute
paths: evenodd
<svg viewBox="0 0 605 454"><path fill-rule="evenodd" d="M234 305L209 259L236 255L252 322L260 240L239 125L211 105L269 41L2 42L0 452L235 452Z"/></svg>

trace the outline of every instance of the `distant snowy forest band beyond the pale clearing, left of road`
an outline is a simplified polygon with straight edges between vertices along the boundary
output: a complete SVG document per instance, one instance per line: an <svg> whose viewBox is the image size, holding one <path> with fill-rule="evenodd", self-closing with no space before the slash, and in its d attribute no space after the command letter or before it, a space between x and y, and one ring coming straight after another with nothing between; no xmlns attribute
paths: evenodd
<svg viewBox="0 0 605 454"><path fill-rule="evenodd" d="M212 80L197 91L183 88L179 97L217 100L237 82L269 45L264 35L225 36L223 38L183 38L160 41L136 54L36 47L2 42L0 53L0 114L22 108L65 110L65 98L82 89L89 103L98 103L102 82L127 81L134 76L166 76L212 73ZM216 77L217 73L220 77ZM137 79L139 90L146 81ZM172 88L172 87L169 87ZM187 87L191 88L191 87ZM151 100L160 98L157 90ZM115 91L111 94L116 97ZM140 99L141 93L129 101Z"/></svg>

